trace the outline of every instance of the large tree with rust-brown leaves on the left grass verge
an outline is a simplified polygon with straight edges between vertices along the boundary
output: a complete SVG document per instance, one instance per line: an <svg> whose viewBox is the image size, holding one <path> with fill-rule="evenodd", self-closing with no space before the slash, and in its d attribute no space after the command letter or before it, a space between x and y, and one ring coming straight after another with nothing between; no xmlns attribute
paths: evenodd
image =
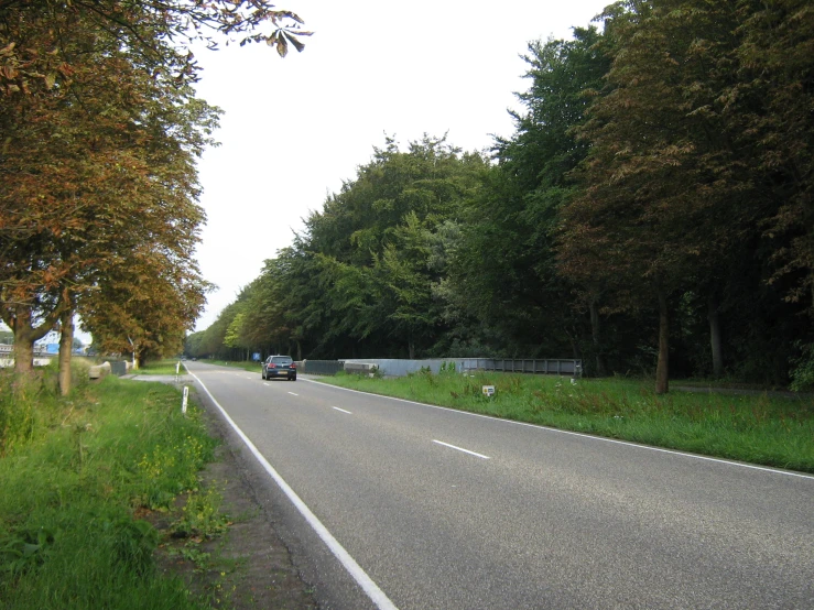
<svg viewBox="0 0 814 610"><path fill-rule="evenodd" d="M144 251L184 266L204 218L194 157L217 123L191 75L173 73L169 48L161 66L90 19L45 21L64 30L70 69L37 95L7 96L0 111L0 305L20 339L19 372L31 369L34 340L61 318L69 329L88 292L98 301L105 277L124 276ZM30 42L54 35L34 18L13 25Z"/></svg>

